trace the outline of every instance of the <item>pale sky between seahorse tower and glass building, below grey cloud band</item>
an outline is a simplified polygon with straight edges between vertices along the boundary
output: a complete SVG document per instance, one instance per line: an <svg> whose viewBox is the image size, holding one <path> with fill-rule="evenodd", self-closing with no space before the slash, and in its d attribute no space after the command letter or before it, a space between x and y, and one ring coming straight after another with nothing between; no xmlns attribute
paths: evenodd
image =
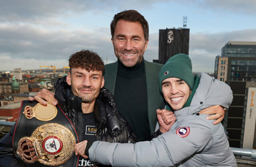
<svg viewBox="0 0 256 167"><path fill-rule="evenodd" d="M214 72L215 57L228 41L255 41L256 29L220 33L191 33L189 55L193 71Z"/></svg>

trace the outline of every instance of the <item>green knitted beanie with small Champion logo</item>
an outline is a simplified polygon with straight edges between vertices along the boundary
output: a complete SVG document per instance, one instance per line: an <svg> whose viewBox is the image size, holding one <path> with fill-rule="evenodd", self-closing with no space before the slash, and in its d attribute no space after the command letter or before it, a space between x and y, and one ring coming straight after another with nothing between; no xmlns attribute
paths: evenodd
<svg viewBox="0 0 256 167"><path fill-rule="evenodd" d="M185 81L190 90L194 87L192 64L188 55L178 54L172 56L159 72L159 88L162 92L162 82L167 78L179 78Z"/></svg>

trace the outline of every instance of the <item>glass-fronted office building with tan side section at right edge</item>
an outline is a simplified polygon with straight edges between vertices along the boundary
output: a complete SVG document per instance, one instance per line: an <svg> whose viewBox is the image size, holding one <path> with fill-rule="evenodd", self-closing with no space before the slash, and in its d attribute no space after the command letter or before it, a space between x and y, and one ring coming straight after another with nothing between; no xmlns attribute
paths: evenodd
<svg viewBox="0 0 256 167"><path fill-rule="evenodd" d="M256 42L226 43L216 56L214 77L220 81L256 81Z"/></svg>

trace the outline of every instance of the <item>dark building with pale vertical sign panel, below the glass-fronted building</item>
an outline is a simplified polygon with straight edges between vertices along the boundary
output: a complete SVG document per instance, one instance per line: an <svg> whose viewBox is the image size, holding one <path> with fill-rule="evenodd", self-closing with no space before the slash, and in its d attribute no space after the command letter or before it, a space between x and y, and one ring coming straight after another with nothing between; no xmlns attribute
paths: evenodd
<svg viewBox="0 0 256 167"><path fill-rule="evenodd" d="M226 129L230 147L256 149L256 83L227 81L233 91Z"/></svg>

